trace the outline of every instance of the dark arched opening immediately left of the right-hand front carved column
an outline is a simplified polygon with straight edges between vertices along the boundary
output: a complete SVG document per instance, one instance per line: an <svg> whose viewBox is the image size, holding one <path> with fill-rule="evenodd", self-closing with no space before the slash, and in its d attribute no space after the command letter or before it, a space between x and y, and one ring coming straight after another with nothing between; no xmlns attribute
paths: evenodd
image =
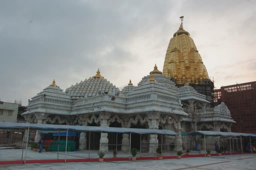
<svg viewBox="0 0 256 170"><path fill-rule="evenodd" d="M131 124L130 128L146 129L147 127L146 127L146 125ZM141 135L141 140L149 141L149 135L148 134L142 134ZM136 148L137 150L140 150L140 134L136 134L136 133L131 134L131 148Z"/></svg>

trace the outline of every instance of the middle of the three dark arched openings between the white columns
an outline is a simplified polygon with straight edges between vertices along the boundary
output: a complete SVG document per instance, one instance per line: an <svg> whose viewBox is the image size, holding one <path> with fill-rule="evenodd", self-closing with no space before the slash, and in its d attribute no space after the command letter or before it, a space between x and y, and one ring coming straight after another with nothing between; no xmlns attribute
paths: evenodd
<svg viewBox="0 0 256 170"><path fill-rule="evenodd" d="M109 127L122 128L122 125L115 121ZM121 150L122 139L123 133L117 133L117 150ZM108 133L108 149L116 149L116 133Z"/></svg>

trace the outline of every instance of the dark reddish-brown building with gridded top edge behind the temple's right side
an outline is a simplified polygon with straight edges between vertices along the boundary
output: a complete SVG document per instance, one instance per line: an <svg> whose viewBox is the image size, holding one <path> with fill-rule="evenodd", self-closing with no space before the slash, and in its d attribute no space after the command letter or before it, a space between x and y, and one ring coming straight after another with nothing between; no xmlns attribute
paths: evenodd
<svg viewBox="0 0 256 170"><path fill-rule="evenodd" d="M233 132L256 133L256 81L222 86L214 90L214 103L224 102L236 124Z"/></svg>

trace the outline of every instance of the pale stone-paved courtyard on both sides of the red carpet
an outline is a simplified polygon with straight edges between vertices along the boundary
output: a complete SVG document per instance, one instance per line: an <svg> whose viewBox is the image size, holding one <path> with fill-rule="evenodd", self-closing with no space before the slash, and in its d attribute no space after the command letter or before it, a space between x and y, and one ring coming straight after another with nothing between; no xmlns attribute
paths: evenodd
<svg viewBox="0 0 256 170"><path fill-rule="evenodd" d="M16 158L19 153L18 149L5 149L0 150L0 159L5 160L13 156ZM72 154L79 152L71 152ZM27 154L30 159L38 159L40 156L37 152L28 151ZM31 155L35 154L35 155ZM50 153L42 153L41 155ZM70 153L69 153L70 154ZM82 153L81 153L82 154ZM95 152L92 153L96 156ZM38 156L39 155L39 156ZM56 156L56 154L54 154ZM62 154L61 158L62 158ZM75 156L75 155L73 155ZM69 158L73 157L70 156ZM79 156L79 155L77 155ZM81 155L80 155L81 156ZM93 156L93 157L95 157ZM17 157L20 157L17 156ZM44 156L42 156L44 157ZM110 157L110 155L108 155ZM53 158L53 157L52 157ZM74 157L73 157L74 158ZM10 159L9 159L10 160ZM13 160L13 159L12 159ZM208 157L195 157L195 158L182 158L182 159L164 159L164 160L141 160L136 162L129 161L113 161L113 162L68 162L68 163L34 163L34 164L13 164L13 165L0 165L0 170L84 170L84 169L101 169L101 170L255 170L256 169L256 154L243 154L243 155L224 155Z"/></svg>

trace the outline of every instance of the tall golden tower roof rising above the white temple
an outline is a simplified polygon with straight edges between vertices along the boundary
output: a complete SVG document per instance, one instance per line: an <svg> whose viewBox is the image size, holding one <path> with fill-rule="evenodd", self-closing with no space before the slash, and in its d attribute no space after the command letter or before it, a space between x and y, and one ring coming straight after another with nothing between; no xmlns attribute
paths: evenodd
<svg viewBox="0 0 256 170"><path fill-rule="evenodd" d="M189 33L179 30L171 38L164 61L163 75L176 79L176 84L189 84L209 79L205 65Z"/></svg>

